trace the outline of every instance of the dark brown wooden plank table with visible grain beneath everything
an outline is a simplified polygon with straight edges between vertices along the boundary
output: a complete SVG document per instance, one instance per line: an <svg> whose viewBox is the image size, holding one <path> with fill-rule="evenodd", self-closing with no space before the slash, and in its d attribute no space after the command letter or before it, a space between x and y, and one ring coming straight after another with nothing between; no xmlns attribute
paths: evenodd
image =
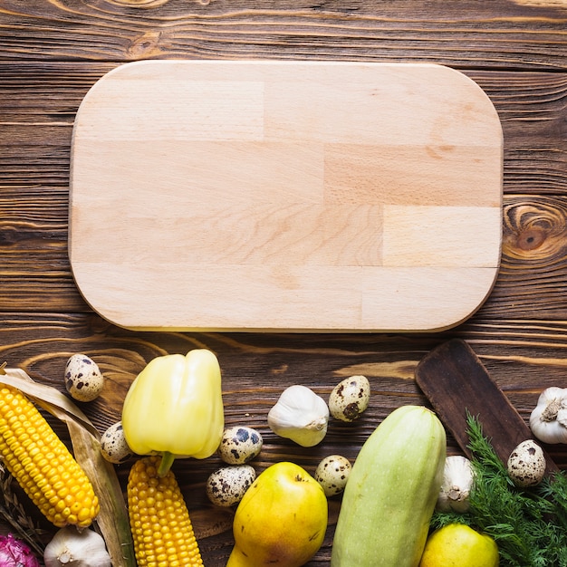
<svg viewBox="0 0 567 567"><path fill-rule="evenodd" d="M331 453L353 459L390 410L427 403L413 371L452 337L474 348L527 419L543 388L567 386L566 30L565 0L0 0L0 361L63 390L67 358L89 354L107 383L84 409L102 431L150 359L207 347L224 372L226 423L264 435L258 472L283 459L311 472ZM151 58L437 62L465 72L494 102L505 135L502 263L488 300L441 333L129 332L102 320L78 293L67 255L73 119L105 72ZM353 373L372 388L356 425L332 423L311 449L267 428L283 387L326 396ZM567 467L562 447L552 455ZM215 514L204 493L218 465L174 466L208 567L224 565L232 547L229 514ZM118 470L123 481L128 466ZM332 533L331 524L310 565L329 562Z"/></svg>

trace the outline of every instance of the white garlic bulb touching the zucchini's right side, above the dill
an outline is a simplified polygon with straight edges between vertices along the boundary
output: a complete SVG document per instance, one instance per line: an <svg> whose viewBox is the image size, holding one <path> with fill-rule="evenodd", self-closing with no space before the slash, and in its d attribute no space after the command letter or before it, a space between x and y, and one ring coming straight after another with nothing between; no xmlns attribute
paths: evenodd
<svg viewBox="0 0 567 567"><path fill-rule="evenodd" d="M461 455L447 456L443 483L437 496L437 510L464 513L468 510L468 495L475 480L472 463Z"/></svg>

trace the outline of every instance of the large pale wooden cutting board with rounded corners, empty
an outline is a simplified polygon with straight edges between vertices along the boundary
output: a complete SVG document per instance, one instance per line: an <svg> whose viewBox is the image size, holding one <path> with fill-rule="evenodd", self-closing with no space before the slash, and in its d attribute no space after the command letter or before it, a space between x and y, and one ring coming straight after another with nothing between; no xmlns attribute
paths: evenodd
<svg viewBox="0 0 567 567"><path fill-rule="evenodd" d="M447 329L495 282L502 154L439 65L127 63L77 113L72 273L137 330Z"/></svg>

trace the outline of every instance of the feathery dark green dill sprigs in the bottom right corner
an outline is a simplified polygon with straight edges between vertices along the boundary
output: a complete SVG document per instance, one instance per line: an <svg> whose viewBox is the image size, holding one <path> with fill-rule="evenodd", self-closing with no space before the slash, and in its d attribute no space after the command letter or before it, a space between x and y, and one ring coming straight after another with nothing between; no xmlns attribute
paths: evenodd
<svg viewBox="0 0 567 567"><path fill-rule="evenodd" d="M466 514L436 512L432 527L460 523L495 539L501 567L567 567L567 476L560 472L532 488L517 488L482 424L467 415L475 471Z"/></svg>

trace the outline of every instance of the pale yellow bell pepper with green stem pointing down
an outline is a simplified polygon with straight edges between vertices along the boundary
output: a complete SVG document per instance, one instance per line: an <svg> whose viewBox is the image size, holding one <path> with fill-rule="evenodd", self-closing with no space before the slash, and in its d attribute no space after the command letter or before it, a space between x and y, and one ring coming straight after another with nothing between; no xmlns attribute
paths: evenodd
<svg viewBox="0 0 567 567"><path fill-rule="evenodd" d="M224 427L221 371L207 349L150 360L124 399L124 437L138 455L162 455L160 476L176 457L213 455Z"/></svg>

